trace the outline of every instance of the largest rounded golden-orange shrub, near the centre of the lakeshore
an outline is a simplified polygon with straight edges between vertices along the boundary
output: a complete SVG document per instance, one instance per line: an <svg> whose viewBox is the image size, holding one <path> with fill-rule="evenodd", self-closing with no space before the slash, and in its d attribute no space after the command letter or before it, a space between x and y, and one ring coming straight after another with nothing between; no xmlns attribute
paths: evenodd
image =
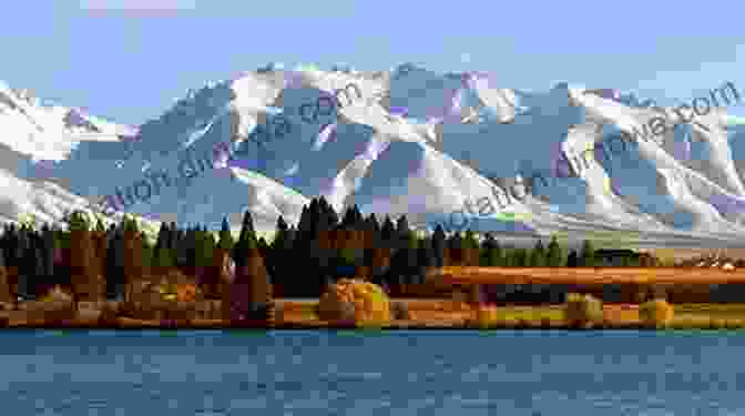
<svg viewBox="0 0 745 416"><path fill-rule="evenodd" d="M327 286L318 302L318 316L356 326L379 326L391 319L390 301L374 283L341 278Z"/></svg>

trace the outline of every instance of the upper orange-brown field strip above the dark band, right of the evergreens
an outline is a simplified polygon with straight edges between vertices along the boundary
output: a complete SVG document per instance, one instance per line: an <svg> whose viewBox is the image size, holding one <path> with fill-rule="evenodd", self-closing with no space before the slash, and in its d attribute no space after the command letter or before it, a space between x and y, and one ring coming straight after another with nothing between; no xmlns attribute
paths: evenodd
<svg viewBox="0 0 745 416"><path fill-rule="evenodd" d="M698 267L442 267L428 276L451 284L727 284L745 271Z"/></svg>

